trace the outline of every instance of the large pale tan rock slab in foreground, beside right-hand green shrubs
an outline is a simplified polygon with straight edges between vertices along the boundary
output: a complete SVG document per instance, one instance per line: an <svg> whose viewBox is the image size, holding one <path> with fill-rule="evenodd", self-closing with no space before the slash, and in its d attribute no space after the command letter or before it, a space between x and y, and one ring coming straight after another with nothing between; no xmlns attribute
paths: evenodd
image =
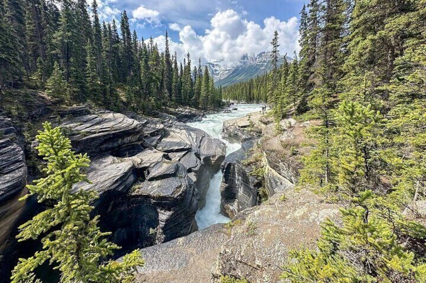
<svg viewBox="0 0 426 283"><path fill-rule="evenodd" d="M289 250L313 247L320 223L339 218L336 204L329 204L308 190L289 189L283 199L276 193L266 202L241 211L233 218L231 237L222 246L212 281L222 275L249 282L277 282Z"/></svg>

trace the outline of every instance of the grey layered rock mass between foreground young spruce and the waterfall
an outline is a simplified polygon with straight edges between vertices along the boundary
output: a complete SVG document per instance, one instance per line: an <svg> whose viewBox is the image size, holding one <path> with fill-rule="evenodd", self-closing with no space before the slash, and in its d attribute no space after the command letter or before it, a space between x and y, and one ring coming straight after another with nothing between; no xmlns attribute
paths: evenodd
<svg viewBox="0 0 426 283"><path fill-rule="evenodd" d="M81 109L62 116L59 126L73 147L92 159L87 171L91 184L76 187L99 193L94 213L123 251L197 229L198 200L204 201L210 172L225 157L225 144L180 122Z"/></svg>

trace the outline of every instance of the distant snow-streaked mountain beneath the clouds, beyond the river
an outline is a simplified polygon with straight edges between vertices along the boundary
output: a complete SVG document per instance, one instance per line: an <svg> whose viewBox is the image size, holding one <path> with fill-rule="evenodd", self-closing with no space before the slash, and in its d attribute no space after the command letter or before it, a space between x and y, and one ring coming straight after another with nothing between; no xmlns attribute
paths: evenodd
<svg viewBox="0 0 426 283"><path fill-rule="evenodd" d="M292 61L288 56L287 60L289 62ZM284 56L280 56L278 64L281 65L283 61ZM264 72L271 71L271 52L261 52L256 56L244 55L236 67L226 66L221 61L211 62L205 65L215 79L216 86L227 86L246 81L262 75Z"/></svg>

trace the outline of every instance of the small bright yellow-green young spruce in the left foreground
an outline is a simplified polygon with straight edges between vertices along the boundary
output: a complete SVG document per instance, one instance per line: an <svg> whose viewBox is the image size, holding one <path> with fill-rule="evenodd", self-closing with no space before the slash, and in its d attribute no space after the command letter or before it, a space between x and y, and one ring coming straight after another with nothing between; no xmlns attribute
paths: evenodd
<svg viewBox="0 0 426 283"><path fill-rule="evenodd" d="M20 241L42 238L43 249L29 258L21 258L12 273L12 282L36 280L34 269L44 262L57 264L61 282L131 282L136 266L144 261L138 250L124 256L122 262L100 260L112 255L117 245L105 239L109 232L101 232L99 216L90 217L91 203L97 198L95 191L79 189L73 185L87 181L81 169L89 166L86 154L75 154L71 141L60 128L43 124L44 132L36 136L37 150L47 162L46 177L28 185L29 194L37 195L39 202L48 203L47 209L19 227ZM50 206L52 205L52 206Z"/></svg>

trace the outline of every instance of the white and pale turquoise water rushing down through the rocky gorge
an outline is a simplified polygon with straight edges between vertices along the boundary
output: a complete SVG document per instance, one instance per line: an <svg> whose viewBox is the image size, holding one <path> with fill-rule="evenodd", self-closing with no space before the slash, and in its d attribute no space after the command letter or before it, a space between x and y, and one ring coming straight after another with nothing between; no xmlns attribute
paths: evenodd
<svg viewBox="0 0 426 283"><path fill-rule="evenodd" d="M239 143L230 143L222 137L222 125L224 121L244 117L253 112L259 112L262 106L259 104L240 104L238 109L231 113L207 114L200 122L187 123L188 126L201 129L210 136L220 139L227 145L226 155L241 148ZM205 196L205 206L198 210L195 219L198 229L204 229L215 223L226 223L230 219L221 214L221 187L222 171L219 170L210 180L210 186Z"/></svg>

